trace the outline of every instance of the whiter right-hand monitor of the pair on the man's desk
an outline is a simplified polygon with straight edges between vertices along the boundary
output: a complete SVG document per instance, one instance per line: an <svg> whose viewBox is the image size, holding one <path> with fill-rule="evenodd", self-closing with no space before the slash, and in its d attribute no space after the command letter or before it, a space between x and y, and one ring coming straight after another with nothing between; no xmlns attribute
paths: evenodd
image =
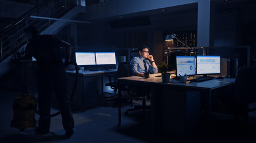
<svg viewBox="0 0 256 143"><path fill-rule="evenodd" d="M221 56L197 55L197 74L217 73L221 73Z"/></svg>

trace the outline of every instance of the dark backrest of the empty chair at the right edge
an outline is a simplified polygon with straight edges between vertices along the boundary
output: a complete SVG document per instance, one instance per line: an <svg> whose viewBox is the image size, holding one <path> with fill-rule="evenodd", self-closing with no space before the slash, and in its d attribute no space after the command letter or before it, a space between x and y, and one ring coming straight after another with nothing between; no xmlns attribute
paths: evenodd
<svg viewBox="0 0 256 143"><path fill-rule="evenodd" d="M239 104L256 101L256 66L240 67L237 71L234 96Z"/></svg>

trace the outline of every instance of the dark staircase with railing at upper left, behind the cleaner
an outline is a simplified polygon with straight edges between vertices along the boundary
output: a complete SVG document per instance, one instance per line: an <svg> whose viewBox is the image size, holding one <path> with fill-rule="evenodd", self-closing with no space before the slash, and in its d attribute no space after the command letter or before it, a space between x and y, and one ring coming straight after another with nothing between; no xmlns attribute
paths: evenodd
<svg viewBox="0 0 256 143"><path fill-rule="evenodd" d="M30 18L31 15L60 18L75 6L76 2L74 0L44 1L20 17L19 21L11 23L2 29L0 31L0 63L28 42L23 32L25 27L35 26L38 32L41 32L55 21Z"/></svg>

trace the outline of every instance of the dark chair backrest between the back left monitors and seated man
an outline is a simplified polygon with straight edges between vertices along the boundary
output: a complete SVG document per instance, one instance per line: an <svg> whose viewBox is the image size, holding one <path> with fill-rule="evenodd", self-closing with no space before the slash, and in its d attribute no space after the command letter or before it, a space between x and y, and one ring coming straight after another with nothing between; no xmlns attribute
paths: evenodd
<svg viewBox="0 0 256 143"><path fill-rule="evenodd" d="M131 76L131 66L129 62L122 62L118 65L118 73L116 75L119 77L128 77Z"/></svg>

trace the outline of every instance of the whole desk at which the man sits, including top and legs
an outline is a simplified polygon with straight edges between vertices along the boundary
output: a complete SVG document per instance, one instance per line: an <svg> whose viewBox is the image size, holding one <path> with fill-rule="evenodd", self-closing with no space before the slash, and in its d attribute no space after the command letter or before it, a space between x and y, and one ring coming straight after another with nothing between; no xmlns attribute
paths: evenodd
<svg viewBox="0 0 256 143"><path fill-rule="evenodd" d="M209 128L210 98L212 90L232 85L234 83L234 79L213 79L204 82L188 81L186 83L180 83L177 80L170 79L169 83L162 83L161 77L155 77L156 75L160 74L150 74L150 77L148 79L139 76L122 77L118 78L118 82L150 86L151 121L153 125L153 130L155 132L167 131L165 133L173 135L174 138L177 138L179 140L186 138L186 134L189 130L188 128L191 128L191 126L189 125L191 122L189 122L188 117L194 116L194 113L199 116L195 117L195 120L193 121L195 122L195 125L197 123L200 123L200 120L205 120L207 128ZM119 90L118 92L119 99L121 98L120 91L121 90ZM171 102L171 104L174 104L177 107L164 110L164 108L166 107L171 107L170 103L165 100L165 98L168 98L168 101L173 101ZM190 104L191 101L193 102L193 105ZM192 108L190 108L189 105L195 107L195 109L192 111L193 114L189 113L190 111L188 111ZM118 114L118 122L120 125L120 102ZM166 118L162 117L162 114L167 115ZM177 130L176 127L179 125L182 129Z"/></svg>

